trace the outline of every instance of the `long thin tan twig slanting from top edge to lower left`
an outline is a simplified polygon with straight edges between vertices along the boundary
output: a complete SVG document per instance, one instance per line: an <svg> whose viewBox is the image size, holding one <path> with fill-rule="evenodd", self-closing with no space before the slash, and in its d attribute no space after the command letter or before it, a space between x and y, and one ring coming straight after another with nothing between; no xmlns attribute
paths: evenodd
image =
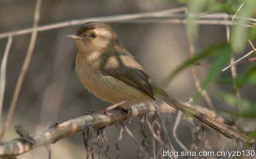
<svg viewBox="0 0 256 159"><path fill-rule="evenodd" d="M22 70L20 71L20 75L18 77L15 89L14 89L14 94L13 94L10 109L8 111L8 114L7 114L6 122L4 123L4 125L1 129L0 139L3 138L4 132L6 131L7 127L9 126L9 124L12 120L14 110L15 110L15 107L16 107L16 104L17 104L17 99L19 97L20 89L22 87L24 77L25 77L27 69L29 67L30 59L31 59L33 51L34 51L34 47L35 47L35 43L36 43L36 36L37 36L36 27L38 26L41 4L42 4L42 0L37 0L36 1L34 24L33 24L30 43L29 43L29 48L27 50L27 55L26 55L25 61L24 61L23 66L22 66Z"/></svg>

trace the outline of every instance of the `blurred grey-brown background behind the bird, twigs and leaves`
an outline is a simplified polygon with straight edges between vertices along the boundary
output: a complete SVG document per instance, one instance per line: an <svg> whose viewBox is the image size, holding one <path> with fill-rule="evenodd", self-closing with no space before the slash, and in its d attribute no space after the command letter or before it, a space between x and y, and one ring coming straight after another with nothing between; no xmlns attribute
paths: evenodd
<svg viewBox="0 0 256 159"><path fill-rule="evenodd" d="M230 3L228 0L216 0L217 3L229 7L209 9L209 6L204 6L201 11L219 11L234 14L240 4L242 4L242 1L236 0ZM35 4L35 0L1 0L0 33L31 28ZM187 6L186 1L43 0L39 26L89 17L152 12L182 6ZM119 41L135 56L142 67L158 83L163 82L171 72L190 58L190 45L187 38L186 24L147 22L108 24L117 32ZM75 56L77 48L71 39L66 38L66 35L75 33L78 28L79 25L75 25L38 32L35 50L17 101L14 118L7 129L3 141L9 141L18 137L13 129L15 124L21 124L30 133L35 134L43 131L50 121L64 122L82 116L89 110L98 112L111 105L89 93L76 76ZM227 41L225 25L199 25L196 34L197 38L194 40L196 53L214 44ZM25 34L13 37L7 61L6 89L1 125L3 125L6 113L9 110L17 77L19 76L29 46L30 36L31 34ZM0 39L1 57L3 57L6 42L7 38ZM237 51L234 57L238 59L251 50L252 47L247 42L242 49ZM207 77L211 65L215 62L215 58L206 58L200 61L200 65L194 65L199 80L203 81ZM226 65L228 63L229 61L226 61ZM237 67L237 74L243 75L253 65L255 65L255 62L247 62L245 60L243 65ZM230 82L230 78L232 79L232 75L230 69L228 69L208 84L211 101L217 112L227 110L236 112L237 110L235 106L230 107L232 105L230 102L221 101L215 94L216 91L232 94L234 87L232 81ZM250 84L243 84L243 87L240 88L242 98L246 98L246 100L252 103L256 102L255 81L256 78L254 76L254 78L250 79ZM197 93L197 89L190 68L184 69L175 76L170 84L165 87L165 90L171 97L181 101L187 101L193 97ZM227 99L229 101L233 99L233 96L227 97L229 97ZM207 107L207 103L203 98L200 101L200 105ZM139 134L140 128L136 124L137 122L138 119L134 119L132 121L134 124L129 124L128 127L135 134L136 139L140 141L142 135ZM249 123L248 120L245 120L245 122ZM168 126L170 136L172 135L172 127L172 124ZM187 146L193 144L191 143L190 131L186 131L188 130L186 125L181 126L179 129L178 137L180 140ZM253 127L250 129L253 129ZM115 158L117 154L115 143L119 131L115 126L111 126L106 128L105 132L110 145L109 155ZM214 132L209 135L213 135L213 138L218 138ZM51 145L51 147L53 159L86 158L81 133L64 138ZM121 149L121 156L119 158L137 158L138 148L127 134L124 134L124 138L119 142L119 147ZM181 150L177 145L175 148L177 151ZM47 152L45 148L38 148L18 156L18 158L45 159L47 158ZM98 158L97 155L96 158Z"/></svg>

